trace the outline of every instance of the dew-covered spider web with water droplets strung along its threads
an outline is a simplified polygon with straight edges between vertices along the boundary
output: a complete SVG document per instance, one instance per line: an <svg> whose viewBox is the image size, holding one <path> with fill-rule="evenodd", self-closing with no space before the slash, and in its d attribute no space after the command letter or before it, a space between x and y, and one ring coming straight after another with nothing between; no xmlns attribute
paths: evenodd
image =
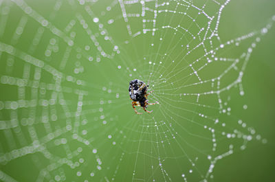
<svg viewBox="0 0 275 182"><path fill-rule="evenodd" d="M1 181L212 181L265 144L238 100L275 18L226 38L230 3L0 1ZM135 78L151 114L131 108Z"/></svg>

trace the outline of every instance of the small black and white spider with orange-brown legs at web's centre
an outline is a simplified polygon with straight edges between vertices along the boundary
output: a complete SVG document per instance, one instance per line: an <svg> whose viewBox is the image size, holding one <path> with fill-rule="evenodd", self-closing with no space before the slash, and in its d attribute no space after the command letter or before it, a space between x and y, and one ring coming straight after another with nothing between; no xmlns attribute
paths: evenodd
<svg viewBox="0 0 275 182"><path fill-rule="evenodd" d="M148 103L147 97L150 93L153 92L151 91L149 93L146 93L148 87L149 85L148 84L146 85L144 82L142 82L142 80L135 79L129 83L129 95L130 95L130 99L133 100L132 106L136 114L140 115L142 113L138 113L137 110L135 109L135 106L142 106L144 111L146 111L147 113L152 113L153 111L147 111L146 107L148 105L154 105L159 103L159 102Z"/></svg>

